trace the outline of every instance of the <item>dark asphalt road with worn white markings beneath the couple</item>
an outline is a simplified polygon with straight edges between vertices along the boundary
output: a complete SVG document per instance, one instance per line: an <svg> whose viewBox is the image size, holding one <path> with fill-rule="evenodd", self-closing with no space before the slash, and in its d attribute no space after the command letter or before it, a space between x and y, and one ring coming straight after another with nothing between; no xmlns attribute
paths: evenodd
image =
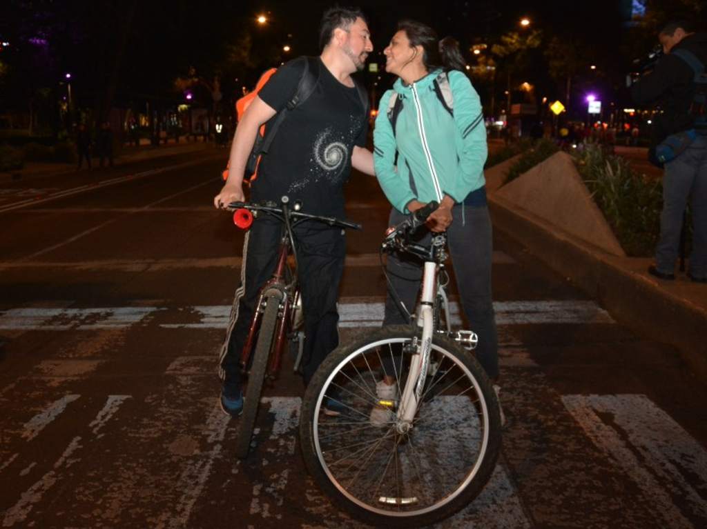
<svg viewBox="0 0 707 529"><path fill-rule="evenodd" d="M50 196L58 182L0 189L0 206L30 186L52 198L0 213L3 527L360 526L306 475L288 364L255 449L233 457L216 355L243 234L210 206L222 165L143 162L114 170L139 178L64 198ZM348 196L365 230L349 235L342 340L379 324L385 292L387 203L360 175ZM438 527L707 526L707 388L677 351L615 323L501 233L493 291L503 453L477 500Z"/></svg>

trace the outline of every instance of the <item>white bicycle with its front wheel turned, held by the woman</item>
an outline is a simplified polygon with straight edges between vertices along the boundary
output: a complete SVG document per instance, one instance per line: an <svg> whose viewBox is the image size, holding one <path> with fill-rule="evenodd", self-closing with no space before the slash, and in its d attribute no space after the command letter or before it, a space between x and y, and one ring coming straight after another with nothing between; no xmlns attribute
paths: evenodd
<svg viewBox="0 0 707 529"><path fill-rule="evenodd" d="M329 354L300 413L310 475L340 509L375 526L428 525L459 511L488 482L501 447L496 393L469 351L477 335L450 329L446 234L434 234L428 247L411 242L436 207L390 229L380 250L381 261L390 251L424 261L416 319ZM392 398L377 392L385 376L396 382ZM320 413L325 399L345 412ZM374 408L383 410L382 424Z"/></svg>

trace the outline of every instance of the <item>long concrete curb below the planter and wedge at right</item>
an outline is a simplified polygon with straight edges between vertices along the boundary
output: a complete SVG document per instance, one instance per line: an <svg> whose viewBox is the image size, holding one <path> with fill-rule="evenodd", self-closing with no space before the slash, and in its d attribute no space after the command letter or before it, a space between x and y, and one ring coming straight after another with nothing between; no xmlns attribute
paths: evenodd
<svg viewBox="0 0 707 529"><path fill-rule="evenodd" d="M648 278L650 259L607 254L498 196L489 196L489 209L495 229L573 280L619 323L677 347L694 374L707 379L707 310Z"/></svg>

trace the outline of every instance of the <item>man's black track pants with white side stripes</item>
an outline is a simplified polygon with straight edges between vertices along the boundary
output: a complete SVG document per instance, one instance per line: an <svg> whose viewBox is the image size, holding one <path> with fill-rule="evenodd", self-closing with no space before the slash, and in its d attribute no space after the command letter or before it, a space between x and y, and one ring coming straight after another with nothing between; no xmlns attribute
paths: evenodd
<svg viewBox="0 0 707 529"><path fill-rule="evenodd" d="M277 265L281 222L260 218L253 222L243 246L241 284L235 292L226 340L221 347L223 392L240 393L240 353L245 345L262 285ZM302 369L308 384L322 360L339 345L337 299L344 272L346 236L340 228L322 228L303 222L295 229L299 285L305 317Z"/></svg>

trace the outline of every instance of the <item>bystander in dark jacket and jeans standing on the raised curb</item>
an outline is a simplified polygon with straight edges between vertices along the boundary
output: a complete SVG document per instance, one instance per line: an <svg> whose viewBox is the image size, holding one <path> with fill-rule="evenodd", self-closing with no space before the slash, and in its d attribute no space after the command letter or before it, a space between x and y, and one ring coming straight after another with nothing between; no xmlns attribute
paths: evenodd
<svg viewBox="0 0 707 529"><path fill-rule="evenodd" d="M707 283L707 127L699 122L705 109L700 111L693 105L695 71L677 52L687 50L706 65L707 35L693 32L686 20L676 20L662 28L658 40L665 56L652 72L633 84L631 95L639 105L658 101L662 105L663 113L655 117L654 146L671 134L691 129L697 136L682 153L665 163L660 239L655 264L648 272L662 280L674 280L682 217L691 198L694 235L688 276Z"/></svg>

